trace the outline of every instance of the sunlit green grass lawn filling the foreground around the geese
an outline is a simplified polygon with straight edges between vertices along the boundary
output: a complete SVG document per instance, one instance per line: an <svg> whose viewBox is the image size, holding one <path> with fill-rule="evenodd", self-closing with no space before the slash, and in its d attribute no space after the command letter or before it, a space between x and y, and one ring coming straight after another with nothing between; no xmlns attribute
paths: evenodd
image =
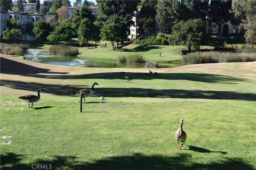
<svg viewBox="0 0 256 170"><path fill-rule="evenodd" d="M136 74L147 69L1 70L1 137L11 136L0 140L1 169L255 169L255 75L225 64L158 69L147 79ZM69 92L94 81L79 113ZM34 108L17 98L38 88L45 92ZM187 141L179 153L180 118Z"/></svg>

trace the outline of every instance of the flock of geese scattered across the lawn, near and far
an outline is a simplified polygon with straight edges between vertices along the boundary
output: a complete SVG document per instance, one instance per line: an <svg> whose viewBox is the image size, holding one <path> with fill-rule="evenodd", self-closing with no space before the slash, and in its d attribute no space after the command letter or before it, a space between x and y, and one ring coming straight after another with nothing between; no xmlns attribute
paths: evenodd
<svg viewBox="0 0 256 170"><path fill-rule="evenodd" d="M121 72L121 74L125 75L125 72ZM141 74L141 73L137 73L137 75L138 74ZM151 75L151 74L153 74L153 72L151 72L149 70L149 74ZM157 75L158 73L155 72L154 74ZM127 77L126 75L125 75L125 80L126 80L126 82L130 81L129 77ZM78 95L78 94L82 93L81 95L84 98L84 102L85 102L85 97L90 97L93 95L95 85L99 85L99 84L97 82L94 82L92 84L91 89L81 89L78 91L71 92L70 95L74 96L74 95ZM27 101L29 108L30 108L30 104L31 104L31 108L33 108L33 104L36 103L40 99L40 92L43 92L43 91L44 91L44 89L39 89L37 91L37 96L36 95L26 95L26 96L20 96L19 98ZM103 96L101 96L100 99L102 100ZM187 134L185 131L183 131L182 125L183 125L183 119L181 118L179 129L174 133L175 140L178 143L178 151L181 151L181 148L187 139ZM182 142L181 145L179 142Z"/></svg>

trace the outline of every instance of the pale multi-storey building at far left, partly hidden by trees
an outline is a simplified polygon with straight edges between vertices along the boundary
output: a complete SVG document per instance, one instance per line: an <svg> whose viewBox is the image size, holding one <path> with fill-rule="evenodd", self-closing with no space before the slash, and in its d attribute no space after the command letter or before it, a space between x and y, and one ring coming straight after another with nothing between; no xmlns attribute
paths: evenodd
<svg viewBox="0 0 256 170"><path fill-rule="evenodd" d="M14 13L14 12L1 11L0 16L1 16L1 36L3 36L3 31L7 29L7 26L6 26L7 20L10 20L12 18L24 24L28 22L35 24L37 20L41 20L41 19L45 21L44 15L39 15L39 14L26 14L26 13ZM25 37L23 37L22 39L24 40ZM27 35L26 40L36 40L36 37Z"/></svg>

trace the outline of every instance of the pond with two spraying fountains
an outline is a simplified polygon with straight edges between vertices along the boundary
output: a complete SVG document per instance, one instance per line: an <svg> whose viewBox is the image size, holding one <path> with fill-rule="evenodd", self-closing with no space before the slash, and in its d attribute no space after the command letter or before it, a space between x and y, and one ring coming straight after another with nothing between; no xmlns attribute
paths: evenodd
<svg viewBox="0 0 256 170"><path fill-rule="evenodd" d="M80 67L106 67L106 68L143 68L146 63L119 63L117 61L97 61L92 60L91 58L78 58L77 56L55 56L50 55L49 52L44 52L42 49L28 49L26 54L23 55L25 60L53 64L53 65L62 65L62 66L80 66ZM161 64L161 67L170 67L166 64Z"/></svg>

